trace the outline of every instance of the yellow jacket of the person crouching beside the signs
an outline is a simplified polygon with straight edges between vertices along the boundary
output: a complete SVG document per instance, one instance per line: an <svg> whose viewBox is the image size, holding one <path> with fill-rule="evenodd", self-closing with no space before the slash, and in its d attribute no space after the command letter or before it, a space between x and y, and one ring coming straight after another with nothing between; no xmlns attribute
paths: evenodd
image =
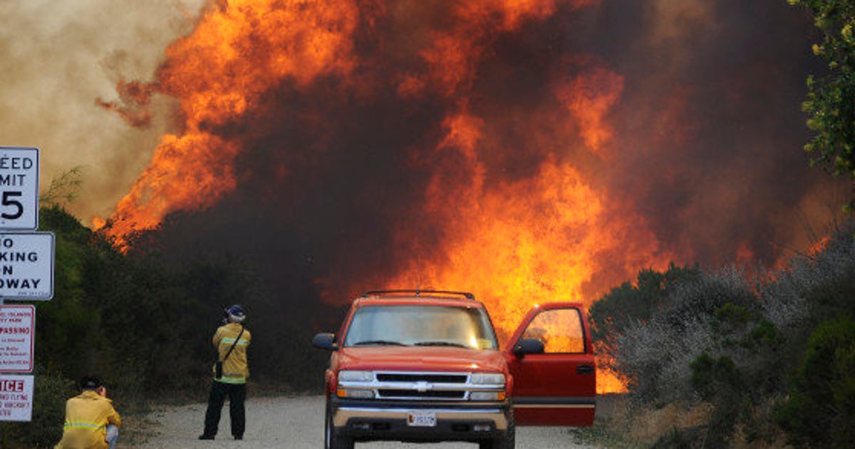
<svg viewBox="0 0 855 449"><path fill-rule="evenodd" d="M65 426L56 449L107 449L107 424L121 427L113 401L86 390L65 403Z"/></svg>

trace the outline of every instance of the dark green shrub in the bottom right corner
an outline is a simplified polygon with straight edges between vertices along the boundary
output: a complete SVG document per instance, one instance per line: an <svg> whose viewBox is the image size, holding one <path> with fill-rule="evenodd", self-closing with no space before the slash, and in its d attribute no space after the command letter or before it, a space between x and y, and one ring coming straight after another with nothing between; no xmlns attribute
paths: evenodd
<svg viewBox="0 0 855 449"><path fill-rule="evenodd" d="M808 340L789 400L777 411L795 446L850 447L855 441L855 322L821 324Z"/></svg>

